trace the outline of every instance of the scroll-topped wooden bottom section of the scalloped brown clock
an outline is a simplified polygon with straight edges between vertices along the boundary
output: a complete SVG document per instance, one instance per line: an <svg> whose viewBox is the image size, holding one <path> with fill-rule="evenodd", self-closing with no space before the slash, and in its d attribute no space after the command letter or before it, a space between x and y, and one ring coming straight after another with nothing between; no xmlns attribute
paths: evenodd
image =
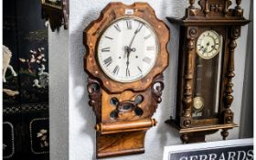
<svg viewBox="0 0 256 160"><path fill-rule="evenodd" d="M97 158L144 153L144 136L155 119L96 125Z"/></svg>

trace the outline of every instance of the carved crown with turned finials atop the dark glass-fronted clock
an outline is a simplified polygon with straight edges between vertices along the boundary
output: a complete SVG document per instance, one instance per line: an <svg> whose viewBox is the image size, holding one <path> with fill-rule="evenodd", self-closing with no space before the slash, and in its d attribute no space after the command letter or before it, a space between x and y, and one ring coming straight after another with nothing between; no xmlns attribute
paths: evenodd
<svg viewBox="0 0 256 160"><path fill-rule="evenodd" d="M246 25L248 20L243 17L243 9L240 6L241 0L236 0L236 6L230 8L234 0L198 0L199 8L195 6L195 0L189 0L189 6L186 9L186 14L182 20L187 25L193 25L190 23L193 20L198 22L206 22L208 25L212 25L219 22L219 25L236 25L236 20L242 20ZM239 25L239 24L238 24Z"/></svg>

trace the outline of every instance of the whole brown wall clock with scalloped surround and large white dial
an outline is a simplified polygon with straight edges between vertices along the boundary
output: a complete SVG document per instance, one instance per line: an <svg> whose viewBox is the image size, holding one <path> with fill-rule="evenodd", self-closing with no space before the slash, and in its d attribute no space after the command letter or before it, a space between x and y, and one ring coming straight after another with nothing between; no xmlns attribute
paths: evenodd
<svg viewBox="0 0 256 160"><path fill-rule="evenodd" d="M96 118L96 155L144 153L161 102L169 29L146 3L111 3L84 31L84 68Z"/></svg>

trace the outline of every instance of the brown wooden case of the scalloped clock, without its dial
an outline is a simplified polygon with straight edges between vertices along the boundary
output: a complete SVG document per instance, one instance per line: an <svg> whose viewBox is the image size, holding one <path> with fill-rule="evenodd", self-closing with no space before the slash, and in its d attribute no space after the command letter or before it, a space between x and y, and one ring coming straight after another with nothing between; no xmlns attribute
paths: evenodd
<svg viewBox="0 0 256 160"><path fill-rule="evenodd" d="M133 14L126 12L132 9ZM121 17L140 17L155 29L159 39L159 53L154 68L141 80L118 82L107 77L96 59L97 43L102 32L113 21ZM152 116L157 104L162 101L164 90L163 71L168 66L166 45L169 41L169 29L155 16L155 11L147 3L110 3L101 16L91 22L84 30L84 45L87 49L84 57L84 69L88 73L89 104L96 114L96 156L98 158L144 153L144 136L146 131L155 126ZM137 97L141 103L135 104ZM111 104L115 97L119 102ZM123 105L131 104L133 108L123 111ZM140 111L140 115L135 112ZM116 117L110 116L115 112Z"/></svg>

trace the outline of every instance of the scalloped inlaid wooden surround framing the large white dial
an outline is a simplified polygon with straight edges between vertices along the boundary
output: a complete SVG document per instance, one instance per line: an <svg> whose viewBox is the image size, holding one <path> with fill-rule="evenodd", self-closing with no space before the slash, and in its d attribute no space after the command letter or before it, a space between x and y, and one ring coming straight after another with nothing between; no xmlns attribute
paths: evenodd
<svg viewBox="0 0 256 160"><path fill-rule="evenodd" d="M132 13L130 13L132 12ZM161 41L160 52L155 61L155 67L141 80L136 80L129 83L118 82L110 79L107 75L101 72L97 65L96 50L98 39L101 37L105 27L111 25L112 21L122 17L141 17L150 26L155 29L155 35ZM155 77L163 72L168 66L169 55L167 52L167 43L170 39L169 29L165 22L155 16L154 9L147 3L134 3L133 5L124 5L123 3L110 3L102 11L101 16L91 22L84 30L84 45L87 48L84 57L84 69L88 74L101 80L101 83L106 91L115 93L125 90L145 91L153 82ZM89 70L90 69L90 70ZM116 86L119 87L116 87ZM132 87L131 87L132 86Z"/></svg>

